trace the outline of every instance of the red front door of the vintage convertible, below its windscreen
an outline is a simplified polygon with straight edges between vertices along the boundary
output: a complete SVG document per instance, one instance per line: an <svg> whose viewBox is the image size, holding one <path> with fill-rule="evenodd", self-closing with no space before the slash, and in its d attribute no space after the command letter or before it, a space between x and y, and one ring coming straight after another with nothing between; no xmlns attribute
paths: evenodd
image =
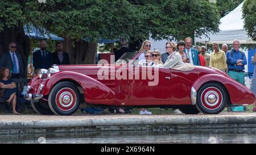
<svg viewBox="0 0 256 155"><path fill-rule="evenodd" d="M171 72L169 68L130 66L129 100L146 103L171 99ZM131 78L133 77L133 78Z"/></svg>

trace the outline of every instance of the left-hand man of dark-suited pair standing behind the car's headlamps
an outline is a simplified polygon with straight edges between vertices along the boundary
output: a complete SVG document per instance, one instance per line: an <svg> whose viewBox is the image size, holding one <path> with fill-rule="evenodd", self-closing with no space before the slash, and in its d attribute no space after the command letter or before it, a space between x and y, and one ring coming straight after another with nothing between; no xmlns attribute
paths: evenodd
<svg viewBox="0 0 256 155"><path fill-rule="evenodd" d="M33 65L36 69L48 69L52 66L52 53L46 50L46 41L40 41L40 49L33 53Z"/></svg>

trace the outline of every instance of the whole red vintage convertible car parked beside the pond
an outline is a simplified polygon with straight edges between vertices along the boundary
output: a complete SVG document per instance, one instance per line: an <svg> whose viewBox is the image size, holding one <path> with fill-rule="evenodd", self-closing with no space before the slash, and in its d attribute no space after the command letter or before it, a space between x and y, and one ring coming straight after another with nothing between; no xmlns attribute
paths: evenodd
<svg viewBox="0 0 256 155"><path fill-rule="evenodd" d="M137 61L141 54L126 53L110 65L41 69L28 84L26 99L43 115L72 115L81 103L101 108L179 108L185 114L218 114L226 106L254 103L249 89L218 69L141 66Z"/></svg>

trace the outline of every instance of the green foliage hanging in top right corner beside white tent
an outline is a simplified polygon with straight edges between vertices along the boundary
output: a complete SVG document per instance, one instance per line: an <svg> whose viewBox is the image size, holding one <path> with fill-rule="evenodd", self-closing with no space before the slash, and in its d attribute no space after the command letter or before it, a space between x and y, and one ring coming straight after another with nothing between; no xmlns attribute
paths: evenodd
<svg viewBox="0 0 256 155"><path fill-rule="evenodd" d="M243 27L247 34L256 41L256 1L246 0L243 3L243 19L245 19Z"/></svg>

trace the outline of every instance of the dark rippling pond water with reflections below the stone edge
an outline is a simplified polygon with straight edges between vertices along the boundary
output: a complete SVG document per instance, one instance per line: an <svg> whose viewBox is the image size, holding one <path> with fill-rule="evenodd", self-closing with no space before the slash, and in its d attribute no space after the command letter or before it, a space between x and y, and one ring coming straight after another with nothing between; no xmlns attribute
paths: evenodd
<svg viewBox="0 0 256 155"><path fill-rule="evenodd" d="M125 131L0 136L0 143L256 143L256 129L237 131Z"/></svg>

